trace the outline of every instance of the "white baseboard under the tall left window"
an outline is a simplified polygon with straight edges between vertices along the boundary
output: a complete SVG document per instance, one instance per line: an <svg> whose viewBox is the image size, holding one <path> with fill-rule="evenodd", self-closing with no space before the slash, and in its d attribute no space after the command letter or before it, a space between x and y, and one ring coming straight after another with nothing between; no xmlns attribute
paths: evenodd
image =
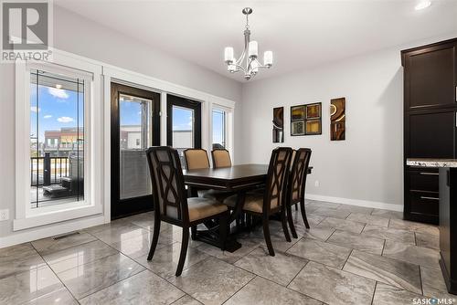
<svg viewBox="0 0 457 305"><path fill-rule="evenodd" d="M40 238L54 237L56 235L81 230L90 226L102 225L104 223L104 216L98 216L95 218L66 222L58 225L46 226L43 228L29 229L27 232L16 233L9 237L0 237L0 248L22 244Z"/></svg>

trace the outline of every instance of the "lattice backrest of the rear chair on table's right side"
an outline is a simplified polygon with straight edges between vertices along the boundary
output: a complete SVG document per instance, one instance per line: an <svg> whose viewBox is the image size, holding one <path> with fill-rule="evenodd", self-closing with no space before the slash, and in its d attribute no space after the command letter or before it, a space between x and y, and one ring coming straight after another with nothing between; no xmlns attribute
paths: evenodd
<svg viewBox="0 0 457 305"><path fill-rule="evenodd" d="M311 150L309 148L300 148L294 152L287 184L287 196L291 203L297 203L304 199L304 187L311 159Z"/></svg>

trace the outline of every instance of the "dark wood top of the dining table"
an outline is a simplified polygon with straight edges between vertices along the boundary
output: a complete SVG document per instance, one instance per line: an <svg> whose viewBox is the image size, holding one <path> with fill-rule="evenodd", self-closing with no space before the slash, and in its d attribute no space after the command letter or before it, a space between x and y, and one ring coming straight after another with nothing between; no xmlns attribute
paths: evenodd
<svg viewBox="0 0 457 305"><path fill-rule="evenodd" d="M311 173L311 169L312 167L308 174ZM185 170L183 174L189 186L239 190L264 184L268 174L268 164L239 164L231 167Z"/></svg>

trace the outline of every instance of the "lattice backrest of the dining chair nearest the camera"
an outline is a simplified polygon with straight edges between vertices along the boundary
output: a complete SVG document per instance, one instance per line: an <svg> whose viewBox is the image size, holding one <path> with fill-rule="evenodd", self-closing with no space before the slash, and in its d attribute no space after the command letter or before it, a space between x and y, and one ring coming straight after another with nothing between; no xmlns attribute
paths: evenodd
<svg viewBox="0 0 457 305"><path fill-rule="evenodd" d="M155 146L146 151L153 183L154 214L158 220L188 223L186 188L179 155L174 148Z"/></svg>

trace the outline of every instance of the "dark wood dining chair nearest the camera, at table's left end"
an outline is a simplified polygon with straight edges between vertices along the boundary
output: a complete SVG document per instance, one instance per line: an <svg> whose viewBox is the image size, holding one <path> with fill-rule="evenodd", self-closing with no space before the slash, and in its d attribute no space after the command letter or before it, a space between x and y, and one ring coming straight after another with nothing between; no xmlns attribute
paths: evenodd
<svg viewBox="0 0 457 305"><path fill-rule="evenodd" d="M216 200L187 198L184 176L177 151L171 147L157 146L146 151L154 195L154 233L147 260L154 257L162 221L183 228L181 252L176 277L181 275L186 261L189 228L210 219L218 218L219 242L224 249L227 237L228 208Z"/></svg>

